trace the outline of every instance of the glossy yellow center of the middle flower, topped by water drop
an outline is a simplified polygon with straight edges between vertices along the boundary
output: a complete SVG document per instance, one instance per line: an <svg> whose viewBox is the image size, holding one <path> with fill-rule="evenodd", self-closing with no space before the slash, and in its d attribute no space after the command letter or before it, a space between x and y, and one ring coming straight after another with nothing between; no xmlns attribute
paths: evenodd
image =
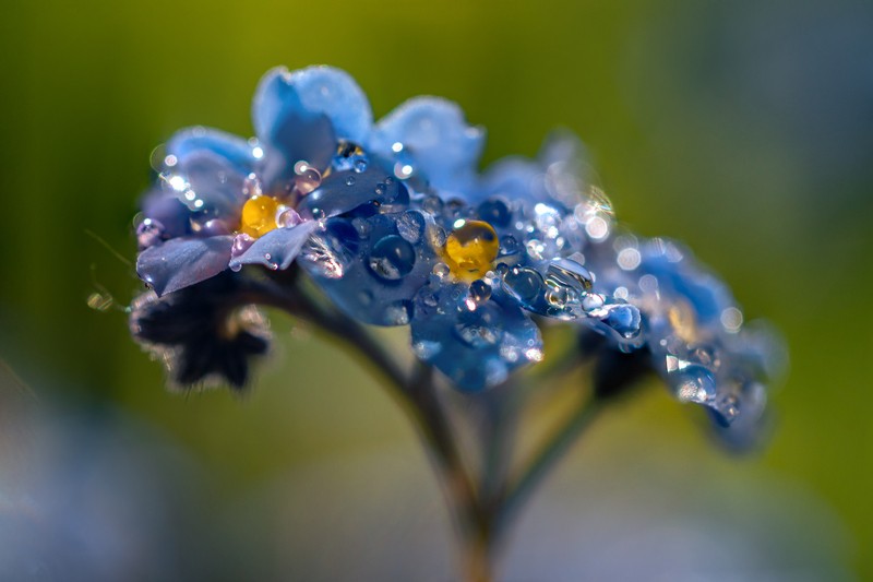
<svg viewBox="0 0 873 582"><path fill-rule="evenodd" d="M498 257L500 241L494 228L482 221L458 221L445 239L444 259L455 277L481 278Z"/></svg>

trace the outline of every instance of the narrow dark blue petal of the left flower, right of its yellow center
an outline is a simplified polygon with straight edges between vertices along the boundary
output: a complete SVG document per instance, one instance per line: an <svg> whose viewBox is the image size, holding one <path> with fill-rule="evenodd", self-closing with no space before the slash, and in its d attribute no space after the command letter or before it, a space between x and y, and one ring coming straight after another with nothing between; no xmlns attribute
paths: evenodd
<svg viewBox="0 0 873 582"><path fill-rule="evenodd" d="M380 207L404 205L409 202L409 192L399 180L375 168L334 171L300 201L297 211L308 217L330 218L370 202Z"/></svg>

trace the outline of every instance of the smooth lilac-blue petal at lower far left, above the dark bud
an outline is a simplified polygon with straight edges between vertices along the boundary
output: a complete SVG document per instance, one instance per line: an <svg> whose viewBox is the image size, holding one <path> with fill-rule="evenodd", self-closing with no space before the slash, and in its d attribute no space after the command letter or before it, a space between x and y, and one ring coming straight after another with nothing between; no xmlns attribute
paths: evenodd
<svg viewBox="0 0 873 582"><path fill-rule="evenodd" d="M165 295L213 277L227 269L234 237L174 238L136 258L136 274Z"/></svg>

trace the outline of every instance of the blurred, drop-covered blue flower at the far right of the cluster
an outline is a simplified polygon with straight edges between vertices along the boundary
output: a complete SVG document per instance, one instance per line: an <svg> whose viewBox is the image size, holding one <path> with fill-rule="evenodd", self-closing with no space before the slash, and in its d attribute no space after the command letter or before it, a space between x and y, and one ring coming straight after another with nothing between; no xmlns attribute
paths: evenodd
<svg viewBox="0 0 873 582"><path fill-rule="evenodd" d="M706 407L731 443L760 430L765 382L782 348L761 325L743 324L728 287L677 242L618 234L589 253L597 286L639 308L651 367L682 402Z"/></svg>

